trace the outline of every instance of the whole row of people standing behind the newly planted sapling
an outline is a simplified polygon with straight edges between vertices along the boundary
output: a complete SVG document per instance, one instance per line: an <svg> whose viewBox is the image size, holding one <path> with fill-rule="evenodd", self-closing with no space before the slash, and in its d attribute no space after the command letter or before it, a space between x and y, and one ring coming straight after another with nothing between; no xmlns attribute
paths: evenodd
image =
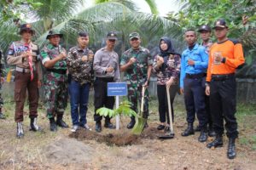
<svg viewBox="0 0 256 170"><path fill-rule="evenodd" d="M141 47L141 37L137 32L129 35L131 48L119 55L113 50L117 35L110 31L106 37L106 46L93 53L88 48L90 41L87 32L79 32L78 45L68 52L60 45L63 35L51 30L47 35L48 43L39 50L32 42L35 31L29 24L20 26L21 40L12 42L9 47L7 62L15 65L15 122L17 137L24 136L22 126L23 108L26 90L29 100L30 130L40 131L38 126L38 88L44 84L46 112L50 131L57 126L68 127L63 120L70 97L72 131L79 127L91 130L86 120L90 86L94 86L94 105L96 132L102 131L102 116L96 110L105 106L113 109L114 98L108 96L108 82L119 82L120 72L125 72L128 86L128 100L131 109L137 112L137 101L144 95L143 117L148 118L148 89L142 94L142 88L148 87L151 72L157 76L157 95L159 100L160 125L158 130L170 132L170 121L174 121L173 101L177 93L184 94L188 127L182 136L189 136L200 131L200 142L215 136L208 148L223 146L224 120L229 138L227 156L236 156L235 142L238 136L236 122L236 68L244 63L241 43L227 37L228 26L224 20L214 24L217 42L210 41L210 26L201 26L198 30L202 43L197 43L196 31L184 32L188 48L178 54L168 37L160 38L160 53L154 58L147 48ZM44 78L40 68L44 67ZM44 81L43 81L44 79ZM167 87L167 88L166 88ZM172 120L168 114L166 90L170 91ZM199 121L194 129L195 113ZM3 114L0 111L0 116ZM167 120L167 122L166 122ZM135 125L135 117L127 128ZM104 127L115 128L110 117L105 117ZM148 127L148 123L145 124Z"/></svg>

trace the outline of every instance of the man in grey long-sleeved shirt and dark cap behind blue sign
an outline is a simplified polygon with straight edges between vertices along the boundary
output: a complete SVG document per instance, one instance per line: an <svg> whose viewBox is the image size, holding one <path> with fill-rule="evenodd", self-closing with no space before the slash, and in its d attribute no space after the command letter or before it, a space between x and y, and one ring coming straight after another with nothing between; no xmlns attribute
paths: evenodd
<svg viewBox="0 0 256 170"><path fill-rule="evenodd" d="M95 98L95 115L96 132L102 131L102 116L96 114L97 109L105 106L108 109L113 109L114 97L107 96L108 82L117 82L119 80L119 55L113 51L117 41L116 33L108 32L106 47L96 51L93 70L95 72L96 81L94 82ZM110 122L110 117L105 117L104 127L115 128Z"/></svg>

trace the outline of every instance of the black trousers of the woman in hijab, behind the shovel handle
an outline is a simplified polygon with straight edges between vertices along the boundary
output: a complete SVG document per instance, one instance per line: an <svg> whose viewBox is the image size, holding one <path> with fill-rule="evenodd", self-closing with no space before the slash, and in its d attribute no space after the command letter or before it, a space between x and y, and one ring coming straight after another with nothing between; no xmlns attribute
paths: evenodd
<svg viewBox="0 0 256 170"><path fill-rule="evenodd" d="M172 110L172 122L174 121L174 111L173 111L173 101L175 95L177 94L177 85L172 85L169 88L170 99L171 99L171 110ZM166 122L170 124L169 110L168 110L168 101L166 94L166 85L157 85L157 97L158 97L158 111L160 116L160 122Z"/></svg>

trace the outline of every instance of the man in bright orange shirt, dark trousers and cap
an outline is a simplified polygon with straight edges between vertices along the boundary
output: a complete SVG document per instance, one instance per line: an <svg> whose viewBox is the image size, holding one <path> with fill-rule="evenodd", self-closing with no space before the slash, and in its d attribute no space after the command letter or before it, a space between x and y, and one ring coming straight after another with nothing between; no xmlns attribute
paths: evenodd
<svg viewBox="0 0 256 170"><path fill-rule="evenodd" d="M218 42L212 45L209 52L206 94L210 95L211 114L216 139L207 144L208 148L223 146L224 120L229 138L227 156L236 157L236 68L244 64L241 43L227 37L229 31L222 19L214 24Z"/></svg>

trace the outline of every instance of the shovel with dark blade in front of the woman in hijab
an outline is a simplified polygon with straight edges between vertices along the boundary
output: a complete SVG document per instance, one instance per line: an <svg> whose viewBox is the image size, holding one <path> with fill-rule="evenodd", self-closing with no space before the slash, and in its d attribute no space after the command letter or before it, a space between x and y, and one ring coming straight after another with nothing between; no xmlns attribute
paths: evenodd
<svg viewBox="0 0 256 170"><path fill-rule="evenodd" d="M169 91L169 88L167 86L166 86L166 94L167 94L169 122L170 122L171 132L165 133L162 136L158 136L159 139L173 139L174 138L173 125L172 125L172 108L171 108L172 105L171 105L171 99L170 99L170 91Z"/></svg>

